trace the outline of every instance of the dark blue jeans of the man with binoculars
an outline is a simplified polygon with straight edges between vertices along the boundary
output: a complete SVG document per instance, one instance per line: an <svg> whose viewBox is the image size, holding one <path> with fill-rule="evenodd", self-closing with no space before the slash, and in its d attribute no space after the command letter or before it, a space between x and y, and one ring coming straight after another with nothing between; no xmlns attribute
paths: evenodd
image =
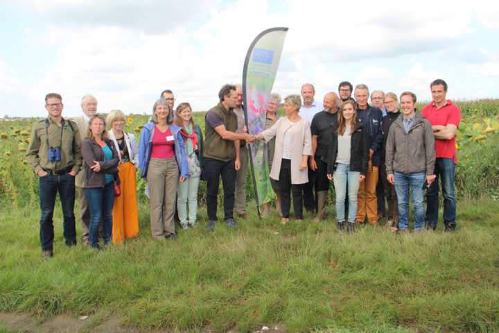
<svg viewBox="0 0 499 333"><path fill-rule="evenodd" d="M58 191L62 206L62 216L64 216L63 230L66 246L76 245L74 180L75 176L71 176L69 173L61 176L50 174L40 177L40 210L42 210L42 217L40 218L40 242L42 243L42 251L53 249L53 210Z"/></svg>

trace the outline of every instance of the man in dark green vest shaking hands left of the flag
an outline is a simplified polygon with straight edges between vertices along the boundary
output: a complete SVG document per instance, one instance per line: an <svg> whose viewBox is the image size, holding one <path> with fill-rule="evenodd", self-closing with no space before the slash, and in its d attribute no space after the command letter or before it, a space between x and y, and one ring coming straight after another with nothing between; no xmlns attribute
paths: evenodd
<svg viewBox="0 0 499 333"><path fill-rule="evenodd" d="M234 85L224 85L218 93L220 103L211 108L205 117L204 126L204 175L207 178L208 228L213 231L218 220L218 183L222 176L224 189L224 221L232 228L234 222L234 191L236 170L240 168L239 140L249 139L247 133L236 133L238 117L234 113L238 95Z"/></svg>

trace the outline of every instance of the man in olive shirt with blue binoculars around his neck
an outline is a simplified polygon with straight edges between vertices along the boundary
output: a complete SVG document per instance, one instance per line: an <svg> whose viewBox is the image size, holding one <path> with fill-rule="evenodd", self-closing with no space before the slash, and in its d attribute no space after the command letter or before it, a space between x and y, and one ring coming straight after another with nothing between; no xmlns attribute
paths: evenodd
<svg viewBox="0 0 499 333"><path fill-rule="evenodd" d="M62 118L63 108L60 94L46 95L49 117L33 126L26 152L30 167L40 177L40 242L44 260L53 256L53 210L58 191L66 246L76 245L75 176L82 165L81 139L76 123Z"/></svg>

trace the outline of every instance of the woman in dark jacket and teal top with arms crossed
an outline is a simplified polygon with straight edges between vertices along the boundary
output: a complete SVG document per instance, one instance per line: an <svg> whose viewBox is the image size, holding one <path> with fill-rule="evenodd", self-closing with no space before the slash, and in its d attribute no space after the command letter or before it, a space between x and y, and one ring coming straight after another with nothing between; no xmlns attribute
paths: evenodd
<svg viewBox="0 0 499 333"><path fill-rule="evenodd" d="M89 204L89 239L92 248L99 249L98 225L103 220L104 246L112 241L112 209L114 205L114 177L119 173L119 153L107 134L105 117L90 117L87 139L83 140L81 154L85 160L85 196ZM119 178L116 177L119 184Z"/></svg>

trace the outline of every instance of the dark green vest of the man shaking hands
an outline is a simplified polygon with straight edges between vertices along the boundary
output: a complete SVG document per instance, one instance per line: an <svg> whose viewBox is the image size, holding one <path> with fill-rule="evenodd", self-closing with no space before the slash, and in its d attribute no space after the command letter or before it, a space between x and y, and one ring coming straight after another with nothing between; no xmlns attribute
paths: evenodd
<svg viewBox="0 0 499 333"><path fill-rule="evenodd" d="M220 102L208 112L210 111L215 112L218 117L220 117L226 130L236 133L237 115L231 108L227 110L225 106L222 105L222 102ZM206 123L204 125L203 157L213 158L213 160L224 162L236 158L236 146L234 146L234 141L222 139L217 131L211 127L209 123Z"/></svg>

